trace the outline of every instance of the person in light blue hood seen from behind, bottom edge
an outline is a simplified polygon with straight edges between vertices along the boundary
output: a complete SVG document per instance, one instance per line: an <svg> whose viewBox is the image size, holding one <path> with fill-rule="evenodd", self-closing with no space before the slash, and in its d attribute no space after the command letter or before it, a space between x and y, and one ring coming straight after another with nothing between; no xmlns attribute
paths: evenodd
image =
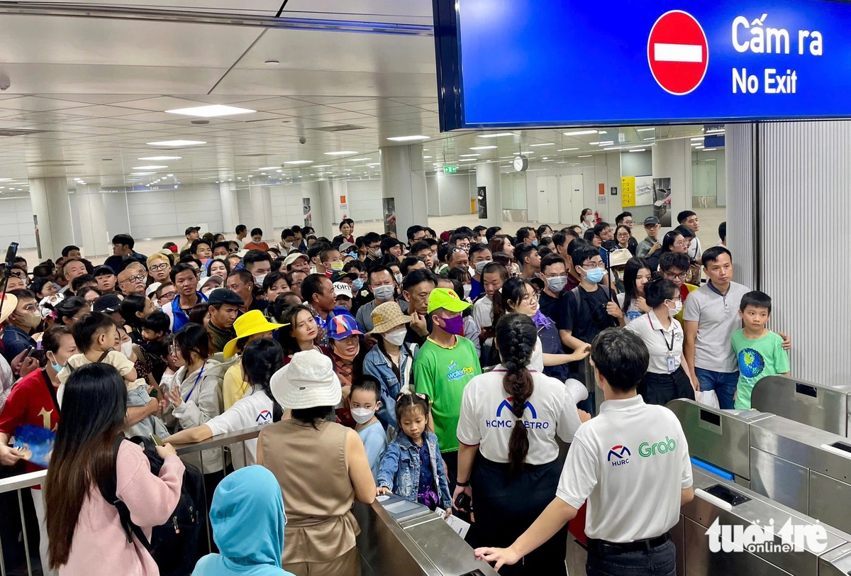
<svg viewBox="0 0 851 576"><path fill-rule="evenodd" d="M293 576L281 567L287 516L268 469L248 466L226 476L213 494L210 523L220 554L204 556L192 576Z"/></svg>

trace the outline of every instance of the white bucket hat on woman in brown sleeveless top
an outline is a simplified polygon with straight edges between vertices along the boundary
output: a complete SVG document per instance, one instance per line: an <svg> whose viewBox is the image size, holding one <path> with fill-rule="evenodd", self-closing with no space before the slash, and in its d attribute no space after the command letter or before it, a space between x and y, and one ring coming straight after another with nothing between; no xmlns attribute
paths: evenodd
<svg viewBox="0 0 851 576"><path fill-rule="evenodd" d="M337 406L343 397L334 363L316 350L296 352L286 366L272 374L269 385L277 403L292 410Z"/></svg>

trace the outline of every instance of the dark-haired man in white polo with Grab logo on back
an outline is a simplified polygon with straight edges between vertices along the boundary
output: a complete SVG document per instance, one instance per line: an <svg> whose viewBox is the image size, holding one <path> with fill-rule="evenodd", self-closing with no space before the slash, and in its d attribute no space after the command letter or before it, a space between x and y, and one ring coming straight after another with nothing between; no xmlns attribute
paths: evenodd
<svg viewBox="0 0 851 576"><path fill-rule="evenodd" d="M556 498L508 548L478 548L476 556L515 564L576 516L588 501L589 576L674 573L677 550L668 532L680 506L694 498L691 461L674 413L645 404L637 386L649 354L628 330L607 328L591 347L591 365L606 402L580 426L568 451Z"/></svg>

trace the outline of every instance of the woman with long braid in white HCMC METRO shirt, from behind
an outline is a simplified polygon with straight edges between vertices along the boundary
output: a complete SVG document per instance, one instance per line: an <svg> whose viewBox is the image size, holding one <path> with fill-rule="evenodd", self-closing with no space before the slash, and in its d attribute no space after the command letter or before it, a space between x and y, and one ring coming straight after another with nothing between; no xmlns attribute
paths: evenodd
<svg viewBox="0 0 851 576"><path fill-rule="evenodd" d="M590 418L577 410L561 382L528 369L537 333L525 314L500 318L495 344L502 363L471 379L461 400L453 501L461 493L471 496L483 541L505 546L556 493L561 474L556 436L570 442L581 421ZM567 534L557 533L505 574L565 574L566 547Z"/></svg>

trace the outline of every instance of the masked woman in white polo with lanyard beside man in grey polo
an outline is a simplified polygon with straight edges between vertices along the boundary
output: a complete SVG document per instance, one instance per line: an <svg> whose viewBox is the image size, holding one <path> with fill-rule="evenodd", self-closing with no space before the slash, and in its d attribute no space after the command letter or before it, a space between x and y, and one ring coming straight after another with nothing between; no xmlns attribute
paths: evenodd
<svg viewBox="0 0 851 576"><path fill-rule="evenodd" d="M694 400L695 386L683 356L683 327L674 318L683 309L680 291L674 282L658 278L644 286L644 300L653 310L626 325L650 352L638 392L644 402L660 406L677 398Z"/></svg>

